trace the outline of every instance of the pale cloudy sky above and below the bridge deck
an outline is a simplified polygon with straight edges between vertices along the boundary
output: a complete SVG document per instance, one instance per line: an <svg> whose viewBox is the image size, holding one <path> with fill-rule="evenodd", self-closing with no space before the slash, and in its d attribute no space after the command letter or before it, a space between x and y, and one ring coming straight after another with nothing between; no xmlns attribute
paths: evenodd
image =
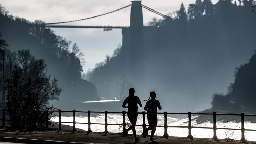
<svg viewBox="0 0 256 144"><path fill-rule="evenodd" d="M167 14L180 8L183 2L186 10L196 0L143 0L142 4ZM215 4L218 0L211 0ZM1 0L10 14L29 21L42 20L46 23L71 21L103 14L131 4L130 0ZM161 18L143 10L144 23L152 18ZM85 54L84 72L93 69L106 55L112 55L118 44L122 44L121 29L52 28L55 34L77 43Z"/></svg>

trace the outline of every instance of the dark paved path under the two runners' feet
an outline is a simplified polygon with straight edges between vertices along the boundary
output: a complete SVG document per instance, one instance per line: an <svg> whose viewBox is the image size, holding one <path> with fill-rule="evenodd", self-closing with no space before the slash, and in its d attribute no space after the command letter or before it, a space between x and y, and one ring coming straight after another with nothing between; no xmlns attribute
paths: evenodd
<svg viewBox="0 0 256 144"><path fill-rule="evenodd" d="M155 141L151 142L149 137L143 138L138 135L140 141L138 144L222 144L222 143L234 143L234 144L244 144L239 140L227 141L220 139L220 142L216 142L213 139L206 138L194 138L190 140L186 137L169 137L169 139L163 136L155 136ZM104 136L101 132L91 132L89 135L86 131L57 131L57 130L47 130L47 131L18 131L18 130L5 130L0 129L0 141L5 142L17 142L17 143L67 143L67 144L133 144L133 135L128 135L128 137L123 137L121 134L108 133ZM256 142L250 142L249 144L256 144Z"/></svg>

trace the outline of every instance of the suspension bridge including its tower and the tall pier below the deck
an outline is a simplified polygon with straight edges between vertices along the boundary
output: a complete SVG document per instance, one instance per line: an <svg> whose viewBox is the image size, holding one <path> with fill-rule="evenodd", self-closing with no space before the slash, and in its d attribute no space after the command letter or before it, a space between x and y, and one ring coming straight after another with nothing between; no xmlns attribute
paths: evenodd
<svg viewBox="0 0 256 144"><path fill-rule="evenodd" d="M134 80L143 81L144 72L134 73L133 69L143 69L144 66L144 42L149 39L148 35L158 27L147 26L143 23L143 13L145 11L153 12L165 19L171 19L154 9L141 4L141 1L132 1L132 4L121 7L111 12L92 16L89 18L45 23L39 27L48 28L98 28L104 31L112 29L122 29L122 72L126 73ZM132 80L132 79L131 79Z"/></svg>

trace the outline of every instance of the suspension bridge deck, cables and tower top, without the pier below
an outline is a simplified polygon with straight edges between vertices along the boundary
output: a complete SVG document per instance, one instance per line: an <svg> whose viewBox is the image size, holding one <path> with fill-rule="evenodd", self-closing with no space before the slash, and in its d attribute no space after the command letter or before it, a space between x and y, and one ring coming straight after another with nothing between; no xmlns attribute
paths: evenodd
<svg viewBox="0 0 256 144"><path fill-rule="evenodd" d="M163 18L170 18L169 16L157 12L152 8L142 5L141 1L132 1L132 4L130 5L104 14L79 20L45 23L43 26L48 28L101 28L105 31L123 29L130 26L146 26L143 25L142 8L160 15Z"/></svg>

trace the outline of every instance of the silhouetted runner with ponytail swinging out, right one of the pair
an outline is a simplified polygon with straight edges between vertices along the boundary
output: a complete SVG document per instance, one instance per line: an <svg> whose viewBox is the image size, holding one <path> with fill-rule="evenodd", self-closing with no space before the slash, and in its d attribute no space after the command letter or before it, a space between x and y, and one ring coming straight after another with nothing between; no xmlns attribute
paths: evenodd
<svg viewBox="0 0 256 144"><path fill-rule="evenodd" d="M149 100L151 97L151 100ZM144 110L147 111L147 118L148 118L148 124L149 127L145 128L146 130L146 135L148 135L148 130L152 130L151 131L151 136L150 136L150 140L153 141L155 140L153 138L153 135L156 131L156 126L157 126L157 108L159 110L162 109L159 100L156 100L156 93L155 91L151 91L148 100L144 100L147 101Z"/></svg>

